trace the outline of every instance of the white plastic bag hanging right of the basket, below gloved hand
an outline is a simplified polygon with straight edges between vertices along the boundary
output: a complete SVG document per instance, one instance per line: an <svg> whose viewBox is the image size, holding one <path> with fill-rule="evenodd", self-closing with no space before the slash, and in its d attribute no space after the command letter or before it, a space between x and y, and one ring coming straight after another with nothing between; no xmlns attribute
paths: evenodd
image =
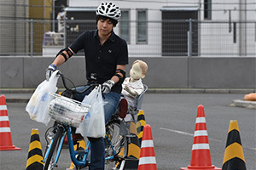
<svg viewBox="0 0 256 170"><path fill-rule="evenodd" d="M94 88L89 95L85 96L83 103L90 105L90 111L84 116L84 120L79 127L79 132L84 137L105 137L105 114L101 85Z"/></svg>

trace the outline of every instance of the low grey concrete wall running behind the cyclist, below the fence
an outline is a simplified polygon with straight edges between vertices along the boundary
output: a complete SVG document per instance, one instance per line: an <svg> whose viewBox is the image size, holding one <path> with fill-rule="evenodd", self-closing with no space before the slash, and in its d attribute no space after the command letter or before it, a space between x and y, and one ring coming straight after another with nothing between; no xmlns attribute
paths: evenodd
<svg viewBox="0 0 256 170"><path fill-rule="evenodd" d="M0 57L0 88L36 88L54 58ZM129 58L131 64L138 58ZM148 88L256 88L256 58L143 57ZM75 56L59 70L75 85L85 80L84 57ZM61 81L59 81L61 82ZM60 86L62 84L60 83Z"/></svg>

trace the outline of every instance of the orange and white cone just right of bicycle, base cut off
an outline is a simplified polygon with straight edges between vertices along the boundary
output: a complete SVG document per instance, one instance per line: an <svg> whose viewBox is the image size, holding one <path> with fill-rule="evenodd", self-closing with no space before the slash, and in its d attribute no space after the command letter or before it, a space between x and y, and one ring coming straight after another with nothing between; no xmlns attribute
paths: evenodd
<svg viewBox="0 0 256 170"><path fill-rule="evenodd" d="M154 156L154 144L150 125L143 128L143 141L141 146L138 170L156 170L156 161Z"/></svg>

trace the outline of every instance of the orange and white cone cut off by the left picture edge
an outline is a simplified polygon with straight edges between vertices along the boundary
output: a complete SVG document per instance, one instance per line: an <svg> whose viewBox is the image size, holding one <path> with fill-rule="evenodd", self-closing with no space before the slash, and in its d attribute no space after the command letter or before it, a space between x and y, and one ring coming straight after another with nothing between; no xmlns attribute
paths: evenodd
<svg viewBox="0 0 256 170"><path fill-rule="evenodd" d="M13 145L5 96L0 96L0 150L21 150Z"/></svg>

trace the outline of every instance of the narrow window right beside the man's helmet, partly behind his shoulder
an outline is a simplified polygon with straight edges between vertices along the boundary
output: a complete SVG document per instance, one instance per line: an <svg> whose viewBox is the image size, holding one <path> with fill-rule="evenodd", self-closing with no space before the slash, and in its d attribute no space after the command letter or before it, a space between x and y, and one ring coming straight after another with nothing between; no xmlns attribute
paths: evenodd
<svg viewBox="0 0 256 170"><path fill-rule="evenodd" d="M127 43L130 43L130 11L123 10L119 21L120 37L124 38Z"/></svg>

